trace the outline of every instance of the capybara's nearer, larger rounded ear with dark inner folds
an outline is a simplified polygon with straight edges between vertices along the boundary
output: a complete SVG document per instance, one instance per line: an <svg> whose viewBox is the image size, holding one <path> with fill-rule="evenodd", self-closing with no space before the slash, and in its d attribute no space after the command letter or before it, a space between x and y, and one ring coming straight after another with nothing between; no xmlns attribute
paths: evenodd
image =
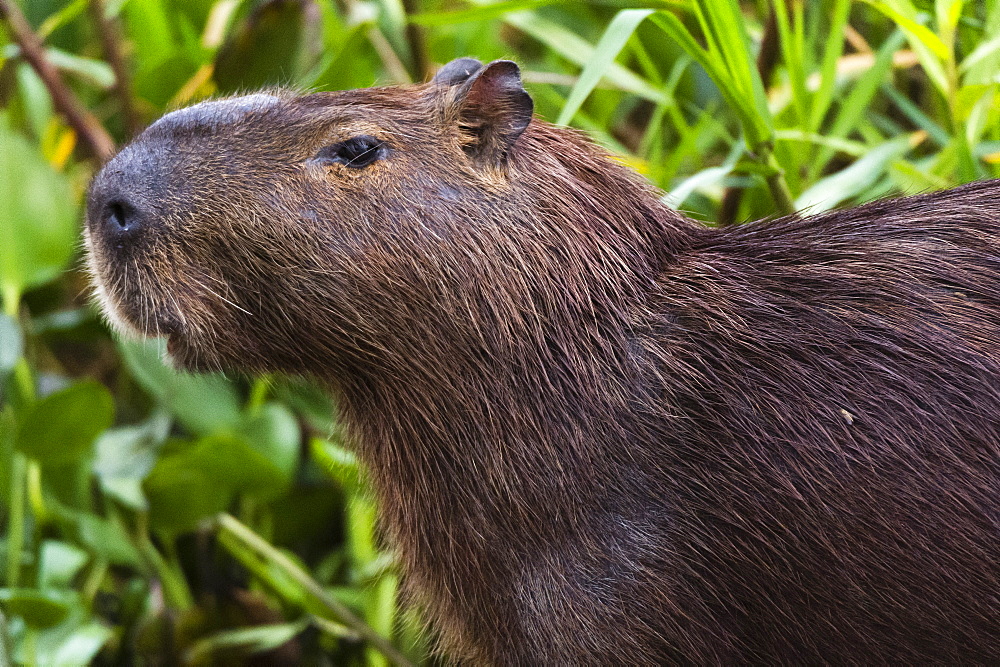
<svg viewBox="0 0 1000 667"><path fill-rule="evenodd" d="M521 70L509 60L494 60L470 76L453 99L463 147L481 166L504 161L535 107L521 85Z"/></svg>

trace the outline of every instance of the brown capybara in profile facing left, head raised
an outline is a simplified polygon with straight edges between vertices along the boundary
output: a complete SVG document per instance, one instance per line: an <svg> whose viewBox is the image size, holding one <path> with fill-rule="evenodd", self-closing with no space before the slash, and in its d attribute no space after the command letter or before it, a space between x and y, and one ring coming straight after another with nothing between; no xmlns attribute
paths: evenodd
<svg viewBox="0 0 1000 667"><path fill-rule="evenodd" d="M1000 661L1000 183L708 229L517 67L164 116L108 318L310 374L473 664Z"/></svg>

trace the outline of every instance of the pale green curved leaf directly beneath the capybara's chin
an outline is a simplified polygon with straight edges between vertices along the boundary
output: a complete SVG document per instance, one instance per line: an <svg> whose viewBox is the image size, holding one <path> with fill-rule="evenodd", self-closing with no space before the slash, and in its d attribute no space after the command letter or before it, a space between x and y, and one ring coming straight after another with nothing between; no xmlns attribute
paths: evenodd
<svg viewBox="0 0 1000 667"><path fill-rule="evenodd" d="M239 394L223 376L176 371L164 362L162 340L122 340L119 347L136 381L191 432L232 431L242 422Z"/></svg>

